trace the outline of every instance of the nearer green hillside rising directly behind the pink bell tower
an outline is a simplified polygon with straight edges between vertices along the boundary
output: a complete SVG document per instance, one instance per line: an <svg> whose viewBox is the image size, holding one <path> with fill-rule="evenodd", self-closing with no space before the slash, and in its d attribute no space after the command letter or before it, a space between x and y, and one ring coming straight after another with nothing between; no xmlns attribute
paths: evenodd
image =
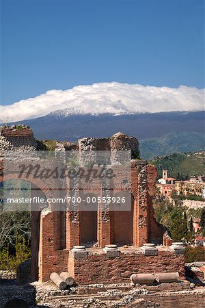
<svg viewBox="0 0 205 308"><path fill-rule="evenodd" d="M186 179L191 175L205 175L205 151L195 153L174 153L165 157L152 159L158 170L159 177L162 177L162 170L169 170L169 176Z"/></svg>

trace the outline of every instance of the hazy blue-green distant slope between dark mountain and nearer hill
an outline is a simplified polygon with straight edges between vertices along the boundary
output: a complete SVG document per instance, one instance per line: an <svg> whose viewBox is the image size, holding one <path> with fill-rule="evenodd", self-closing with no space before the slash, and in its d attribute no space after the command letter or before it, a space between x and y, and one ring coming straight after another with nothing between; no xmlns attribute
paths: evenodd
<svg viewBox="0 0 205 308"><path fill-rule="evenodd" d="M140 140L141 157L153 159L172 153L190 153L205 150L204 133L172 132L159 138Z"/></svg>

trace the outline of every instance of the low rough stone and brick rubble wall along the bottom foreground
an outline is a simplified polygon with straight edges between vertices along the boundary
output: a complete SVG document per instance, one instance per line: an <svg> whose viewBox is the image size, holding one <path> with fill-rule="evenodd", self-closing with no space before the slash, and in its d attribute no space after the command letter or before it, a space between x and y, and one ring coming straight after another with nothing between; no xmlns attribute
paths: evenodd
<svg viewBox="0 0 205 308"><path fill-rule="evenodd" d="M41 305L52 308L204 308L205 289L191 289L189 283L162 283L150 287L101 284L71 288L69 293L51 286L47 289L39 286L36 296Z"/></svg>

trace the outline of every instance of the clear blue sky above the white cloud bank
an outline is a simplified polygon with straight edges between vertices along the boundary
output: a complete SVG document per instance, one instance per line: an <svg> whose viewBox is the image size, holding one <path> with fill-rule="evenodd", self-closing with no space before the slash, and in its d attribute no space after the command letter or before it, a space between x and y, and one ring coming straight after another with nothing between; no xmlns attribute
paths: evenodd
<svg viewBox="0 0 205 308"><path fill-rule="evenodd" d="M204 88L204 1L1 0L1 105L104 81Z"/></svg>

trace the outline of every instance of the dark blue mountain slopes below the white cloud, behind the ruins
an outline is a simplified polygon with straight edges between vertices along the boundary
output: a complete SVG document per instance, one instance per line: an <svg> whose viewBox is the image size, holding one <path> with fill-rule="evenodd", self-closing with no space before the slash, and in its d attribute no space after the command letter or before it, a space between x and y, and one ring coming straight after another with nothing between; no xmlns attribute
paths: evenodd
<svg viewBox="0 0 205 308"><path fill-rule="evenodd" d="M84 137L111 137L122 131L137 137L141 155L150 158L174 152L204 149L205 112L69 115L68 110L15 124L29 125L38 140L77 141ZM148 140L146 140L148 139ZM142 140L142 141L141 141Z"/></svg>

